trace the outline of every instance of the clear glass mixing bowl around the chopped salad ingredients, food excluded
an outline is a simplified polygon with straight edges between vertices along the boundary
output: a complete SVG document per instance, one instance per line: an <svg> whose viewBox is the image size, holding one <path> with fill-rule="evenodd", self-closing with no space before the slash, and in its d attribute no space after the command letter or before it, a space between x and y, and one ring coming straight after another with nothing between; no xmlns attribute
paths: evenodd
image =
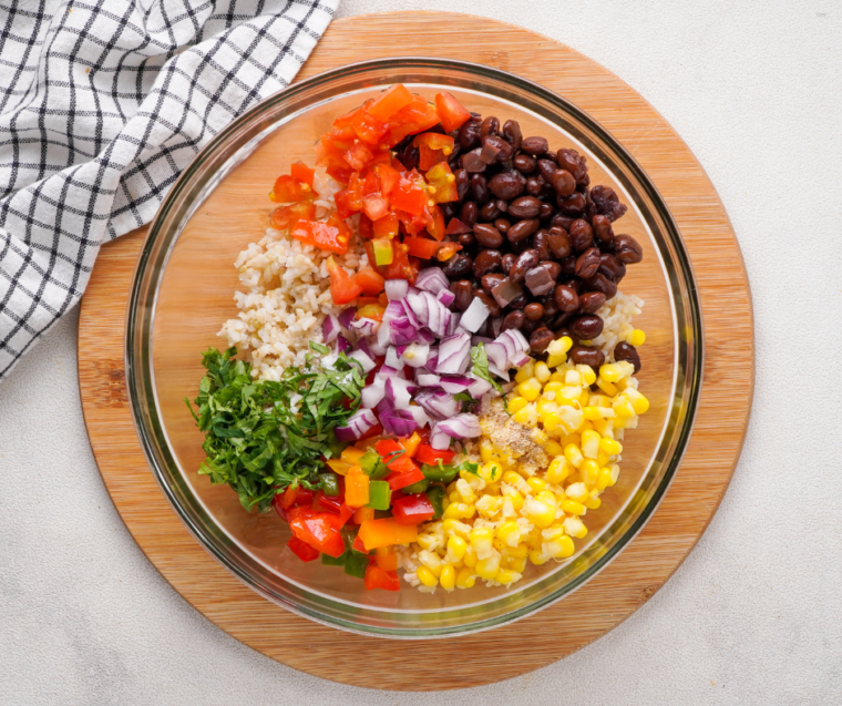
<svg viewBox="0 0 842 706"><path fill-rule="evenodd" d="M266 194L292 162L314 163L333 117L392 83L430 99L445 89L469 110L515 119L523 134L586 154L592 184L612 186L629 208L615 225L645 250L622 289L646 301L640 389L651 407L627 431L618 483L588 511L588 535L563 563L530 566L510 590L366 591L362 581L285 551L274 512L246 512L227 487L196 469L202 434L184 403L204 374L202 352L236 316L233 263L263 237ZM267 166L268 165L268 166ZM680 462L699 396L701 316L690 263L656 187L624 147L586 113L546 89L487 66L434 59L378 60L295 84L235 120L175 183L152 224L134 277L126 327L132 412L152 472L202 545L260 595L312 620L364 634L434 637L485 630L537 611L582 586L635 536Z"/></svg>

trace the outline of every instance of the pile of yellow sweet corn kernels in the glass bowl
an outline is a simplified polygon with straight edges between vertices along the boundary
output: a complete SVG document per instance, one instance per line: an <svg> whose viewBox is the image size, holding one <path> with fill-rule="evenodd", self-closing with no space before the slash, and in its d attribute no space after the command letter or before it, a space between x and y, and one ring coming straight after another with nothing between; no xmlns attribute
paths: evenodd
<svg viewBox="0 0 842 706"><path fill-rule="evenodd" d="M644 339L639 329L628 336L635 346ZM531 429L548 467L535 472L486 437L478 454L469 444L478 473L461 472L446 489L441 520L422 525L418 544L402 553L404 577L421 591L470 589L478 580L507 587L527 562L563 561L575 552L574 539L587 534L584 516L619 477L624 430L637 427L649 402L630 362L598 371L573 365L572 345L566 336L553 341L547 361L521 368L507 397L509 412Z"/></svg>

